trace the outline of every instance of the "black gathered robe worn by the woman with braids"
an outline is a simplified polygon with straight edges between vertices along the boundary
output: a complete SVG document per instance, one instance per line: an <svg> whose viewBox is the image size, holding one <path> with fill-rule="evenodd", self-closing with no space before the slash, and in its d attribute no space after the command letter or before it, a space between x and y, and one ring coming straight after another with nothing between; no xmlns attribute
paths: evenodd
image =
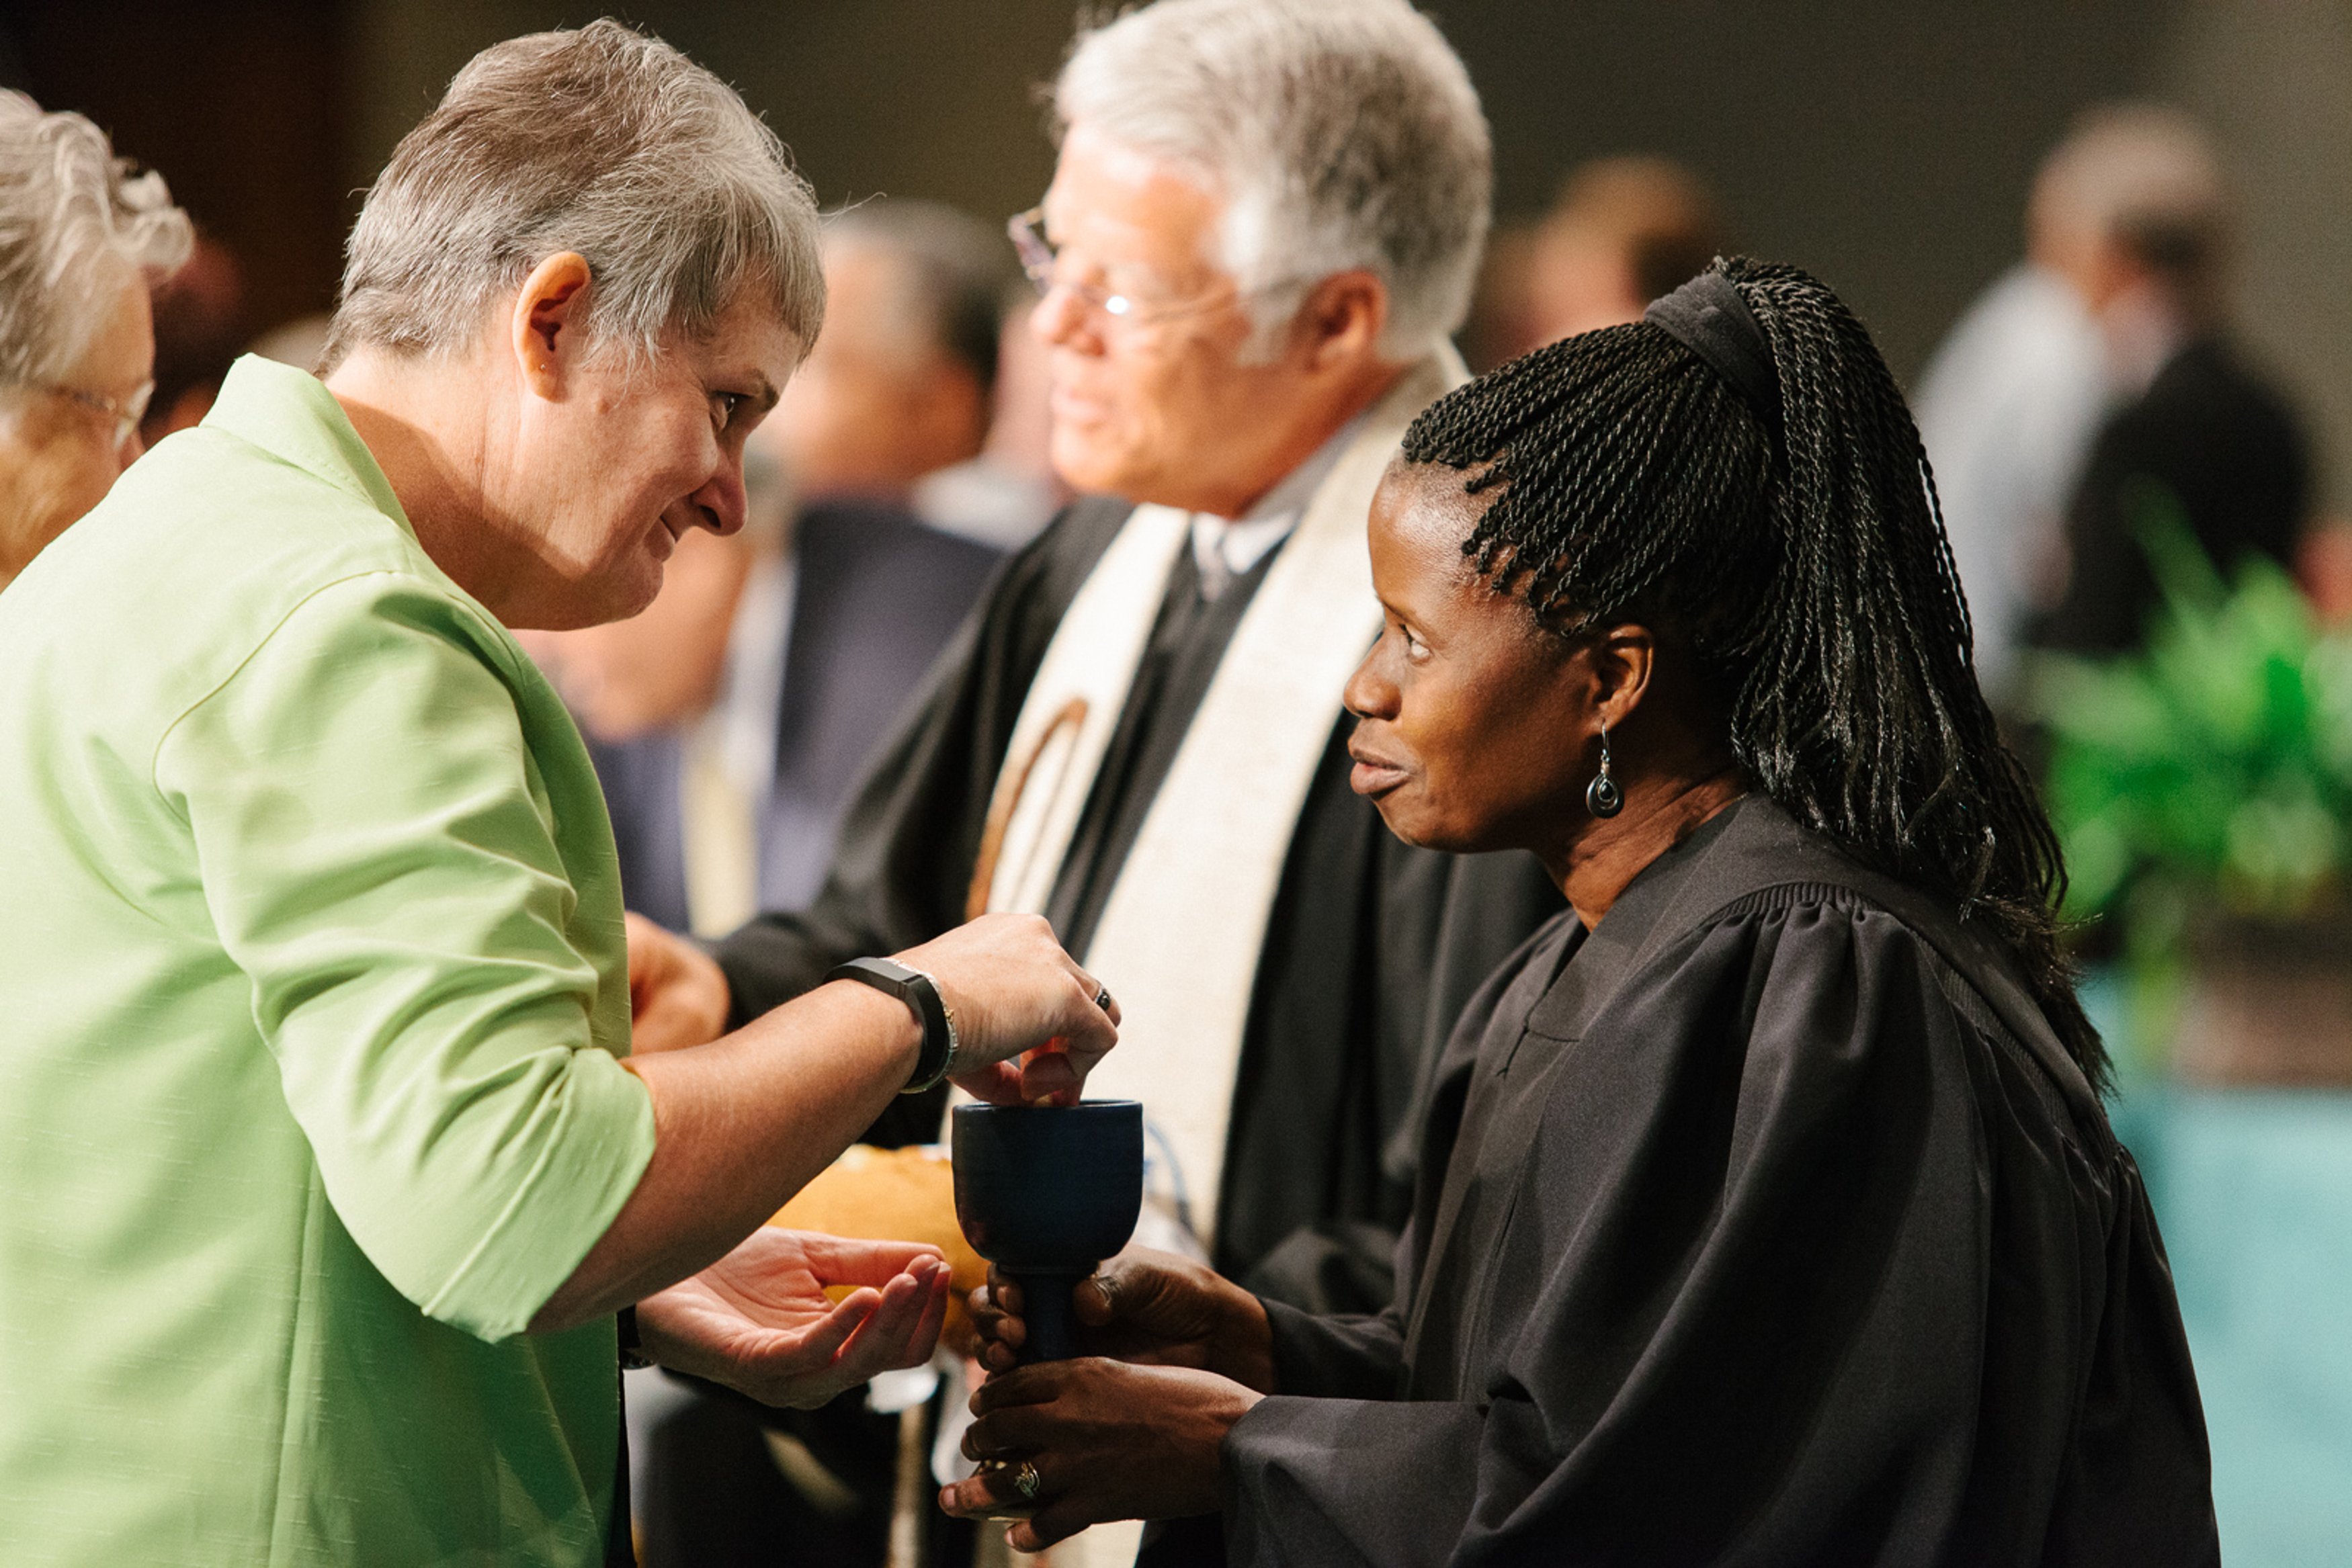
<svg viewBox="0 0 2352 1568"><path fill-rule="evenodd" d="M1559 917L1432 1095L1399 1305L1270 1305L1232 1563L2216 1563L2131 1157L2006 950L1762 797Z"/></svg>

